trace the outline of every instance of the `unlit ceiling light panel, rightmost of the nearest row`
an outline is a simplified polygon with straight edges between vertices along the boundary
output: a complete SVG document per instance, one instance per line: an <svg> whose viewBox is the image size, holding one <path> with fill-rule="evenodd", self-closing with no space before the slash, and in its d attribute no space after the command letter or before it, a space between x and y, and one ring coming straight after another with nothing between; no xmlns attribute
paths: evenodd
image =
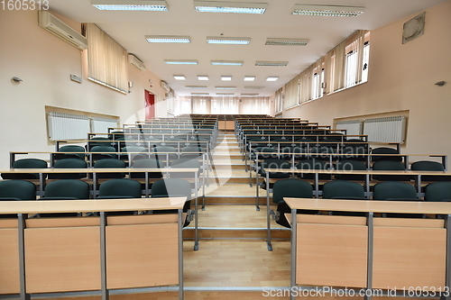
<svg viewBox="0 0 451 300"><path fill-rule="evenodd" d="M291 14L322 16L357 16L364 13L362 6L342 5L294 5Z"/></svg>

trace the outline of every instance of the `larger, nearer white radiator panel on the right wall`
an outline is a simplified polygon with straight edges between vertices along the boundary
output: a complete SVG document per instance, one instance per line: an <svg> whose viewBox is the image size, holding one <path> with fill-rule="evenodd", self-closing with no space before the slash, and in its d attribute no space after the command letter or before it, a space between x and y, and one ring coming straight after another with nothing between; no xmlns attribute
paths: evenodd
<svg viewBox="0 0 451 300"><path fill-rule="evenodd" d="M406 138L406 118L392 116L364 120L364 134L368 141L404 143Z"/></svg>

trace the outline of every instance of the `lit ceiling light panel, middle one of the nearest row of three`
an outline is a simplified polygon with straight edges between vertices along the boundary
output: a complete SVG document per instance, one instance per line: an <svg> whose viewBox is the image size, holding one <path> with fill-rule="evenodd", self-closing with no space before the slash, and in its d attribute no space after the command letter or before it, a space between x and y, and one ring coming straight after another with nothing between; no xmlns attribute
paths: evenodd
<svg viewBox="0 0 451 300"><path fill-rule="evenodd" d="M264 14L267 6L265 3L194 1L199 13Z"/></svg>

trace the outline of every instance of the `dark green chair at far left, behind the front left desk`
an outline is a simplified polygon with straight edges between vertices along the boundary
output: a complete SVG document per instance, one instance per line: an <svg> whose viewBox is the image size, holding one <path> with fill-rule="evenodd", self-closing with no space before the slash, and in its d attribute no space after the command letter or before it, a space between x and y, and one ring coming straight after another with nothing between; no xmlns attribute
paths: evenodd
<svg viewBox="0 0 451 300"><path fill-rule="evenodd" d="M36 186L26 180L0 181L0 201L36 200ZM17 214L0 214L0 219L16 218Z"/></svg>

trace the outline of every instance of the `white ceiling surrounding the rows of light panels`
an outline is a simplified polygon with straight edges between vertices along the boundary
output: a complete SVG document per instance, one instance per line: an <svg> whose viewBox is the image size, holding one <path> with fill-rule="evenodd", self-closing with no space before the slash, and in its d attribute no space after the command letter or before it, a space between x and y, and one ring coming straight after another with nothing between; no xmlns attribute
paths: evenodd
<svg viewBox="0 0 451 300"><path fill-rule="evenodd" d="M265 14L196 13L192 0L166 0L169 12L99 11L89 0L52 0L51 10L80 23L97 25L126 50L142 59L146 68L166 81L178 95L191 93L259 93L272 95L281 86L308 68L340 41L358 29L372 30L416 14L447 0L234 0L267 3ZM323 17L291 15L294 4L364 6L357 17ZM428 18L426 19L428 23ZM426 25L428 26L428 25ZM156 44L145 35L189 35L189 44ZM249 37L249 45L207 44L207 36ZM266 38L309 39L307 46L265 46ZM401 37L400 37L401 41ZM195 66L166 65L164 59L198 59ZM244 60L244 66L211 66L210 60ZM289 61L287 67L255 67L256 60ZM173 75L184 75L177 81ZM199 81L198 75L210 80ZM232 81L221 81L231 75ZM244 76L255 81L244 82ZM266 82L278 76L275 82ZM185 86L207 86L188 89ZM217 90L215 86L236 86L235 90ZM264 86L264 89L244 89Z"/></svg>

